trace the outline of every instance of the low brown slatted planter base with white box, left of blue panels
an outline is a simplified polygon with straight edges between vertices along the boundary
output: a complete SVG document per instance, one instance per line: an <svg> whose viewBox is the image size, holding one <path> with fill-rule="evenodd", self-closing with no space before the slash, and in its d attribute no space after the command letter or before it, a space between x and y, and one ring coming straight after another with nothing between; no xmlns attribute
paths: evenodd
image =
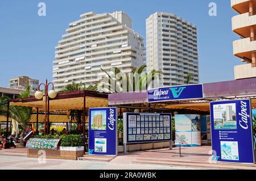
<svg viewBox="0 0 256 181"><path fill-rule="evenodd" d="M61 150L27 149L28 158L77 160L78 157L82 157L83 155L83 147L64 147Z"/></svg>

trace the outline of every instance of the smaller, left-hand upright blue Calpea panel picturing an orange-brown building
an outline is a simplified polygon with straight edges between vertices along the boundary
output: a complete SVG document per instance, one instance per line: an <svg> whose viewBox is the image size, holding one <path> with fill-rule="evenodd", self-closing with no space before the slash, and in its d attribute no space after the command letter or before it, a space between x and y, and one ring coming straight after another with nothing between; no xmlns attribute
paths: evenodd
<svg viewBox="0 0 256 181"><path fill-rule="evenodd" d="M117 108L89 108L89 154L117 153Z"/></svg>

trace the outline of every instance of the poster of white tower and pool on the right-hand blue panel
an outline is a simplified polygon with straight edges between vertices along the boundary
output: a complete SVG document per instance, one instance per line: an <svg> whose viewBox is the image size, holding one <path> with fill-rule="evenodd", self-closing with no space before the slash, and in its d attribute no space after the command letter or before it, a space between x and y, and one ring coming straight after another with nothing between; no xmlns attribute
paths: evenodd
<svg viewBox="0 0 256 181"><path fill-rule="evenodd" d="M215 104L214 129L237 129L236 104Z"/></svg>

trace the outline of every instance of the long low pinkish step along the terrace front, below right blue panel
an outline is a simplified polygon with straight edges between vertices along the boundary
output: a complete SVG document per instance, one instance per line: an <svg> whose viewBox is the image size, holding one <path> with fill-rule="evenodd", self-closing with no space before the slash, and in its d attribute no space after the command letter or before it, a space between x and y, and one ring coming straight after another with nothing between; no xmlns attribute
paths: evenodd
<svg viewBox="0 0 256 181"><path fill-rule="evenodd" d="M183 166L183 167L194 167L194 168L204 168L204 169L235 169L235 170L256 170L256 167L253 165L245 166L245 165L238 165L229 163L226 164L219 164L219 163L195 163L195 162L174 162L174 161L159 161L157 160L150 160L150 159L136 159L133 163L145 163L145 164L156 164L156 165L170 165L170 166Z"/></svg>

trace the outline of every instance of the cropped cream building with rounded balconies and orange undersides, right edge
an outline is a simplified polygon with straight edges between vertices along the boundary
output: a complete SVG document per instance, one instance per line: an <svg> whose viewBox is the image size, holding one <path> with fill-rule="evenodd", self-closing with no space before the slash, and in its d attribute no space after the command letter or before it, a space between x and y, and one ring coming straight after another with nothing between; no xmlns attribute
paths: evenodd
<svg viewBox="0 0 256 181"><path fill-rule="evenodd" d="M234 67L235 79L256 77L256 0L231 0L231 6L238 12L232 30L241 37L233 42L233 53L246 63Z"/></svg>

